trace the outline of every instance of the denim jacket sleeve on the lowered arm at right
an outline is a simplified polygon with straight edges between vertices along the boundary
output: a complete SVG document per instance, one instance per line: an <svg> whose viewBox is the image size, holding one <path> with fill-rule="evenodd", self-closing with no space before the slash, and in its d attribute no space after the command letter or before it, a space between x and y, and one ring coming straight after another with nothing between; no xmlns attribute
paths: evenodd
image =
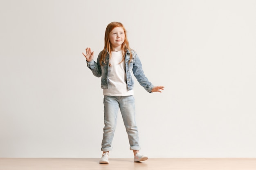
<svg viewBox="0 0 256 170"><path fill-rule="evenodd" d="M152 88L154 87L154 85L148 81L148 78L144 74L141 61L139 60L139 57L137 56L137 54L133 53L133 55L135 56L135 62L133 63L133 68L132 68L133 75L136 77L139 84L145 88L146 91L148 91L149 93L152 93Z"/></svg>

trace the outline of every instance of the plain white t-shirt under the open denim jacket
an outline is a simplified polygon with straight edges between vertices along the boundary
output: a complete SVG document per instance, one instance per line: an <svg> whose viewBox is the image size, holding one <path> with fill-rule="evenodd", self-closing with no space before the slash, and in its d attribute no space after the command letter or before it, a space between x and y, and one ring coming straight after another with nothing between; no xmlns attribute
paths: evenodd
<svg viewBox="0 0 256 170"><path fill-rule="evenodd" d="M103 89L103 95L133 95L133 90L128 91L127 88L125 62L121 62L122 59L122 51L111 51L110 66L108 68L108 88Z"/></svg>

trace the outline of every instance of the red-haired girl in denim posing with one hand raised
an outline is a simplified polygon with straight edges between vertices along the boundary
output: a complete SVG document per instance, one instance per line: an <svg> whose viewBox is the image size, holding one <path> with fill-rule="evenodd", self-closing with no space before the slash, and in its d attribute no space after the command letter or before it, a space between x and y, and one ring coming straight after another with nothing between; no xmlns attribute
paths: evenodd
<svg viewBox="0 0 256 170"><path fill-rule="evenodd" d="M132 73L149 93L161 92L164 86L153 86L144 75L139 57L130 49L126 37L126 29L120 22L108 24L105 32L105 45L99 53L97 62L93 60L94 52L85 49L87 66L93 75L101 77L104 104L104 128L101 150L103 151L99 163L109 163L108 155L112 150L112 139L117 124L117 113L120 109L126 132L133 150L134 161L145 161L146 155L139 153L139 136L135 121L135 101L133 98L134 80Z"/></svg>

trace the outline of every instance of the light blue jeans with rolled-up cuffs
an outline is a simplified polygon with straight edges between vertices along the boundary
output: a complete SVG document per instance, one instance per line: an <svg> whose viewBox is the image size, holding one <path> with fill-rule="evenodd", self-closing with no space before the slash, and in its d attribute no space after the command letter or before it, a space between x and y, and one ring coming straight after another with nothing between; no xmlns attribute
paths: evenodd
<svg viewBox="0 0 256 170"><path fill-rule="evenodd" d="M104 95L104 128L101 150L107 152L112 150L117 114L120 108L124 126L128 134L130 150L140 150L139 134L135 121L135 100L133 96L107 96Z"/></svg>

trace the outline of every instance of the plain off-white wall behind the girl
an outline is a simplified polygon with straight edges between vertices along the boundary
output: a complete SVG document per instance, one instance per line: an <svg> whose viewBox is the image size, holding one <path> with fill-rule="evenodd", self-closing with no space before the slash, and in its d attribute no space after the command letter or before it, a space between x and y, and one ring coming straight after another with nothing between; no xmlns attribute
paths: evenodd
<svg viewBox="0 0 256 170"><path fill-rule="evenodd" d="M135 84L149 157L256 157L256 1L3 0L0 157L100 157L103 95L82 52L119 21L144 72ZM111 157L132 157L118 119Z"/></svg>

